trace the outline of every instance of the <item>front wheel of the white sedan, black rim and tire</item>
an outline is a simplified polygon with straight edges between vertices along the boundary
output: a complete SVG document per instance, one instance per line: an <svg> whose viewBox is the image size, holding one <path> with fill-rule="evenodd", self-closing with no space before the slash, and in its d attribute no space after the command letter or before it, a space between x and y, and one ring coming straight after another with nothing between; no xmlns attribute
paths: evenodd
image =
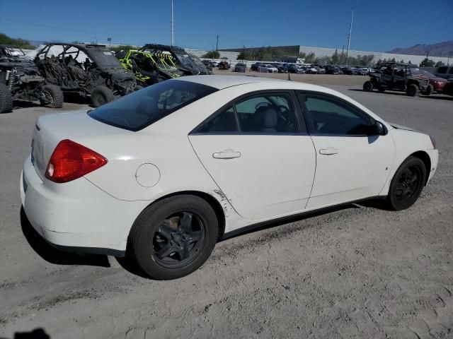
<svg viewBox="0 0 453 339"><path fill-rule="evenodd" d="M426 182L426 167L418 157L408 157L391 179L386 205L391 210L405 210L417 201Z"/></svg>

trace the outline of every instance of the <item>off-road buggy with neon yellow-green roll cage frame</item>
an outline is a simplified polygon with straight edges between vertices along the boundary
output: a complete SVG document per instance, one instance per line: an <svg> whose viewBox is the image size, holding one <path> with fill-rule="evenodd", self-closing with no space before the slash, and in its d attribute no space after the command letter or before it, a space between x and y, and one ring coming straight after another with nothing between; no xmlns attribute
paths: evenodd
<svg viewBox="0 0 453 339"><path fill-rule="evenodd" d="M176 68L171 54L140 52L130 49L120 57L121 65L135 74L137 83L143 87L160 83L171 78L179 78L184 73Z"/></svg>

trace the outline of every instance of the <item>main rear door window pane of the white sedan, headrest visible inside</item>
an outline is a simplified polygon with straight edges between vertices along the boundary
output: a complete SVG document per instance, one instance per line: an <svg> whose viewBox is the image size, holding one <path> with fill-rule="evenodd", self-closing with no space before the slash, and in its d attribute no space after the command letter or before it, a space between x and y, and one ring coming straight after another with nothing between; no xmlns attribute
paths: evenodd
<svg viewBox="0 0 453 339"><path fill-rule="evenodd" d="M297 133L297 119L289 94L263 94L236 103L241 132Z"/></svg>

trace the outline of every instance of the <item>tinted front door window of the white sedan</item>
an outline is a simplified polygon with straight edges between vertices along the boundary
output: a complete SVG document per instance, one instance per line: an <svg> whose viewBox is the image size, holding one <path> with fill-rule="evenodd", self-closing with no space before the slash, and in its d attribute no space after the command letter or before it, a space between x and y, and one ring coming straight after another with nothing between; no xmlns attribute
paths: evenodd
<svg viewBox="0 0 453 339"><path fill-rule="evenodd" d="M334 136L365 136L371 119L341 100L323 95L302 95L310 133Z"/></svg>

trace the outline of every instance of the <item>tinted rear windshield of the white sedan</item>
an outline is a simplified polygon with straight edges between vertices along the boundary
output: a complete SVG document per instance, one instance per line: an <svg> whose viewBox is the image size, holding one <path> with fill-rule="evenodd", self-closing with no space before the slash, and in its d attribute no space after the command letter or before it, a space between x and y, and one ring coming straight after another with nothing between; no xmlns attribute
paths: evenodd
<svg viewBox="0 0 453 339"><path fill-rule="evenodd" d="M178 109L217 91L190 81L167 80L130 93L88 115L120 129L140 131Z"/></svg>

